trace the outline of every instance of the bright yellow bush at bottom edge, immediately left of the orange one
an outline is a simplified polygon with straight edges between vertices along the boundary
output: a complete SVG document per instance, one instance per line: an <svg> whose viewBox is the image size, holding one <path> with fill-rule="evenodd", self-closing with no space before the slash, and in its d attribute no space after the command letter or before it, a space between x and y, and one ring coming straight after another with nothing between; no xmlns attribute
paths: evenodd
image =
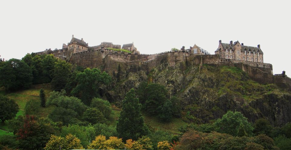
<svg viewBox="0 0 291 150"><path fill-rule="evenodd" d="M88 146L88 149L123 149L124 147L125 145L121 138L111 136L106 140L105 136L98 135Z"/></svg>

